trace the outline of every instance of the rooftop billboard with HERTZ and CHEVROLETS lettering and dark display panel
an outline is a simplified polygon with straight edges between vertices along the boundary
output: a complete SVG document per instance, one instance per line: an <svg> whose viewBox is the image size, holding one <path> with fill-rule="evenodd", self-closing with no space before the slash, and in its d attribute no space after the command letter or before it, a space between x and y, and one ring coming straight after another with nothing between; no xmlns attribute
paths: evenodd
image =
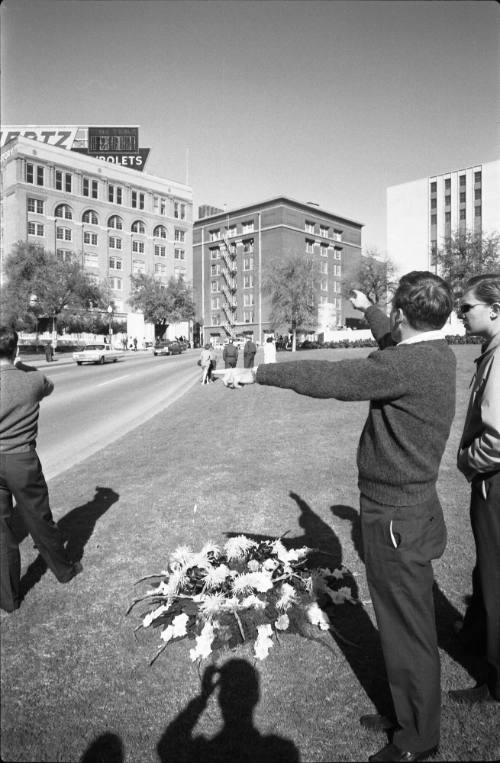
<svg viewBox="0 0 500 763"><path fill-rule="evenodd" d="M87 154L104 162L142 172L149 148L139 148L139 128L75 125L13 125L4 126L0 133L3 148L15 138L38 140L51 146Z"/></svg>

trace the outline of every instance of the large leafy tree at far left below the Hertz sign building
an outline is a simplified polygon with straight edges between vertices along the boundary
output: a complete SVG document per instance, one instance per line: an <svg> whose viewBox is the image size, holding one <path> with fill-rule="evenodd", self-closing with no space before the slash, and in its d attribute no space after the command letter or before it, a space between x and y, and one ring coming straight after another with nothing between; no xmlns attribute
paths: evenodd
<svg viewBox="0 0 500 763"><path fill-rule="evenodd" d="M109 294L76 260L60 260L37 244L20 241L7 256L2 320L19 328L58 316L68 307L104 308Z"/></svg>

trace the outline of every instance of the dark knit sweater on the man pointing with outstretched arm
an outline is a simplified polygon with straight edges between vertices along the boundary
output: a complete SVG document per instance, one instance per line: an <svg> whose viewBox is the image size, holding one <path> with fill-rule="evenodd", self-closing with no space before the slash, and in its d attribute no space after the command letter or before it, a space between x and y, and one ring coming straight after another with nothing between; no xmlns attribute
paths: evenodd
<svg viewBox="0 0 500 763"><path fill-rule="evenodd" d="M259 365L256 381L311 397L369 400L359 489L381 504L412 506L435 489L455 413L455 355L444 339L395 345L378 308L366 318L381 348L367 358Z"/></svg>

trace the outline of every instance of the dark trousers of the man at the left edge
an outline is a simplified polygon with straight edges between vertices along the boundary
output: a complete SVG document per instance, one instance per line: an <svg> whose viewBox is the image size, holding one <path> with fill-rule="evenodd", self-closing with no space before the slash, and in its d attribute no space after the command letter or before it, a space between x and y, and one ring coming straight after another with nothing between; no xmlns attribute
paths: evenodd
<svg viewBox="0 0 500 763"><path fill-rule="evenodd" d="M70 580L73 565L52 518L47 483L35 450L0 454L0 606L7 612L17 609L21 601L21 555L13 532L14 511L21 515L47 567L61 583Z"/></svg>

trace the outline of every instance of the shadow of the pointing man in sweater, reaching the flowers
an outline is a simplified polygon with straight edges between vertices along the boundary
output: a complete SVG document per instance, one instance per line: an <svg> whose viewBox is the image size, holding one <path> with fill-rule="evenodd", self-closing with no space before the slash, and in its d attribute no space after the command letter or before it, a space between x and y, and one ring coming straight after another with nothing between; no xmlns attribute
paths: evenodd
<svg viewBox="0 0 500 763"><path fill-rule="evenodd" d="M334 570L342 567L343 555L341 543L326 522L321 519L299 495L291 492L292 498L300 509L298 519L303 534L295 537L285 536L282 543L287 550L308 546L314 552L308 557L308 567L329 567ZM351 508L351 507L345 507ZM352 509L354 511L354 509ZM226 533L229 537L240 533ZM271 539L269 535L245 533L257 542ZM273 538L274 539L274 538ZM352 573L344 568L342 585L349 587L353 598L358 598L358 584ZM378 713L392 717L394 709L389 692L384 659L378 631L361 603L326 605L333 628L330 634L349 663L351 670L363 687Z"/></svg>

